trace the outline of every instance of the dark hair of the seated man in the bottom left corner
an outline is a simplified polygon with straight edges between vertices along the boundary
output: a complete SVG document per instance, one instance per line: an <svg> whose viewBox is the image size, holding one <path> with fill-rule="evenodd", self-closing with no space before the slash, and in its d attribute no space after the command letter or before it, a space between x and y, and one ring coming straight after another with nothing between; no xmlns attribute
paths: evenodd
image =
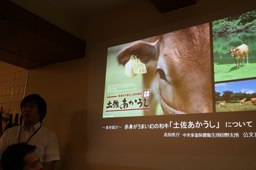
<svg viewBox="0 0 256 170"><path fill-rule="evenodd" d="M8 146L1 158L3 170L23 170L26 164L25 156L34 152L35 149L35 145L26 143L16 143Z"/></svg>

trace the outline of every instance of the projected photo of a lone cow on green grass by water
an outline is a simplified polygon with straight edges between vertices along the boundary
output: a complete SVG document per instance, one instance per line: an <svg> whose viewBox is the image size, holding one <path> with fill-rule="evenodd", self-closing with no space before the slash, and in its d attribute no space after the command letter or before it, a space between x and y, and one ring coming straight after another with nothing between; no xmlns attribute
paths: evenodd
<svg viewBox="0 0 256 170"><path fill-rule="evenodd" d="M256 11L212 22L214 82L256 77L255 25Z"/></svg>

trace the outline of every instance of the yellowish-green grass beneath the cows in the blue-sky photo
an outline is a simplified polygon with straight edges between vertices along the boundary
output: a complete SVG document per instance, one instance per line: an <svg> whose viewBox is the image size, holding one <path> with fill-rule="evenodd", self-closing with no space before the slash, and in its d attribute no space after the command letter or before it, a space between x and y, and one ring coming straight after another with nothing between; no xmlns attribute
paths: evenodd
<svg viewBox="0 0 256 170"><path fill-rule="evenodd" d="M224 112L224 111L249 111L256 110L256 106L251 106L251 102L245 102L245 105L240 105L239 102L228 102L225 106L220 106L220 103L224 101L216 102L216 112ZM254 104L255 105L255 104ZM219 107L220 106L220 107Z"/></svg>

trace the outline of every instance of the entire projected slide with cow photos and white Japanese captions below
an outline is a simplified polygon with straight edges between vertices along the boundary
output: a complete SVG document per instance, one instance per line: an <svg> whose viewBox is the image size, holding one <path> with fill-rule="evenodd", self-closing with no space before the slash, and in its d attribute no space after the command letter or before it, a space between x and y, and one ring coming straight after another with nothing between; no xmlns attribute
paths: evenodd
<svg viewBox="0 0 256 170"><path fill-rule="evenodd" d="M228 14L90 51L106 57L96 52L109 47L106 63L91 59L101 70L89 69L87 162L117 166L98 169L255 169L256 11ZM97 83L104 81L103 92Z"/></svg>

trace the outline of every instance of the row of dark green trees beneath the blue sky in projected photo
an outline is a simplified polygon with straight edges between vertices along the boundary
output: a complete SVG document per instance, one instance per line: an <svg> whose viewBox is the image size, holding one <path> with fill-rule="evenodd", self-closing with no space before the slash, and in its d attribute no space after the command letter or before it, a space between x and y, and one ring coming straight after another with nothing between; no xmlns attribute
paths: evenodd
<svg viewBox="0 0 256 170"><path fill-rule="evenodd" d="M233 93L231 91L225 91L223 92L223 95L220 96L220 92L215 92L215 101L226 101L226 102L239 102L240 100L243 100L246 98L246 101L250 101L251 98L256 98L256 93L252 94L246 94L245 92L239 92L239 93Z"/></svg>

